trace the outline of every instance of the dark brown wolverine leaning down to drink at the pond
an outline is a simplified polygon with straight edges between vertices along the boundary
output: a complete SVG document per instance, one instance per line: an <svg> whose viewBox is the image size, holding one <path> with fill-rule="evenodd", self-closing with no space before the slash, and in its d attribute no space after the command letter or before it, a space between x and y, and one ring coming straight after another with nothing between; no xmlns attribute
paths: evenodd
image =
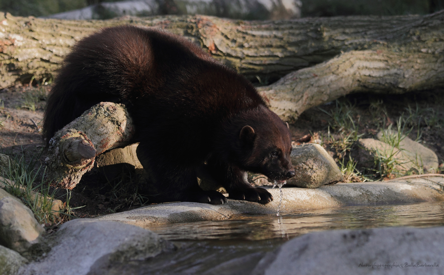
<svg viewBox="0 0 444 275"><path fill-rule="evenodd" d="M226 202L199 188L196 167L204 161L230 197L264 204L270 193L252 188L246 171L276 180L294 175L285 123L249 81L187 39L122 26L79 41L48 98L47 142L104 101L127 105L140 142L137 155L162 190L160 201Z"/></svg>

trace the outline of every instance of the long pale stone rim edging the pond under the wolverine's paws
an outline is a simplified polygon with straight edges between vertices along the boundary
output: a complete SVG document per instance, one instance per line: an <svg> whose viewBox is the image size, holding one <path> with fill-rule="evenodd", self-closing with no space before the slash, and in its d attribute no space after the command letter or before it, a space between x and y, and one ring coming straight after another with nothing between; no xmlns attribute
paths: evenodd
<svg viewBox="0 0 444 275"><path fill-rule="evenodd" d="M211 205L193 202L153 204L130 211L100 216L137 226L204 220L226 220L243 213L274 214L279 205L279 189L267 189L274 200L266 205L228 200L228 204ZM283 188L281 213L350 205L383 205L444 200L444 177L400 178L396 181L339 183L319 188Z"/></svg>

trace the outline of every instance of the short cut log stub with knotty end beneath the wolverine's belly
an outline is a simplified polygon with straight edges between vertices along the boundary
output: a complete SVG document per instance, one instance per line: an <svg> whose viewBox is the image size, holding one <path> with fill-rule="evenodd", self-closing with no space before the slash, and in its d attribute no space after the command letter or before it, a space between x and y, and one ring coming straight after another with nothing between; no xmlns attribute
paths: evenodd
<svg viewBox="0 0 444 275"><path fill-rule="evenodd" d="M52 185L73 189L94 166L95 157L127 145L134 134L123 104L100 102L56 132L49 141L47 177Z"/></svg>

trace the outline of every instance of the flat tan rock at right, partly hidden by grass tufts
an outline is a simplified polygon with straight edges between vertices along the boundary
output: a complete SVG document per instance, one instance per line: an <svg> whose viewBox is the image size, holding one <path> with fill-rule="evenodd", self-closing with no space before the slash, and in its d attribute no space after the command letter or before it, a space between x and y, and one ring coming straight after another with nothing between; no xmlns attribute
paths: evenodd
<svg viewBox="0 0 444 275"><path fill-rule="evenodd" d="M424 168L428 173L435 173L438 169L436 154L410 138L406 137L400 141L400 149L373 138L361 138L358 142L360 149L356 155L356 161L362 167L373 167L375 165L375 155L378 152L382 156L391 156L392 159L396 159L394 169L398 171L421 170L421 168Z"/></svg>

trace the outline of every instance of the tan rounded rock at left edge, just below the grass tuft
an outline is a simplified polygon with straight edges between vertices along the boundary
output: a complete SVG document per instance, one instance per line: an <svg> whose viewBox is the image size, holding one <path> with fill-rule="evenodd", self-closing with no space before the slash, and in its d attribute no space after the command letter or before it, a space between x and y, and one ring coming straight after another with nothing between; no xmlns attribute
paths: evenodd
<svg viewBox="0 0 444 275"><path fill-rule="evenodd" d="M31 209L11 197L0 200L0 244L20 254L39 244L45 229Z"/></svg>

